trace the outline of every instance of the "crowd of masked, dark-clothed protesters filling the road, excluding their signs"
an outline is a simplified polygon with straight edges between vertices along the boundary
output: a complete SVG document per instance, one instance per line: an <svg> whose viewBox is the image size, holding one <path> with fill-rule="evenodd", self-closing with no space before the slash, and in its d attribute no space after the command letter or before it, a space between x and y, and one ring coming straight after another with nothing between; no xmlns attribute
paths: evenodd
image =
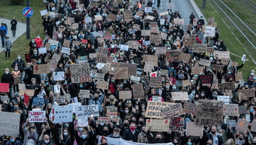
<svg viewBox="0 0 256 145"><path fill-rule="evenodd" d="M215 53L195 53L193 48L185 44L190 37L196 37L196 43L207 44L208 47L214 47L214 50L227 51L223 40L219 39L219 31L216 29L215 37L205 37L202 32L202 25L207 24L204 19L199 18L196 25L173 24L174 18L181 18L179 11L171 11L168 9L168 15L160 16L153 8L152 12L145 13L145 7L154 7L154 0L149 0L146 4L144 1L138 1L132 4L131 1L96 1L97 7L91 6L94 1L45 1L46 9L51 12L51 15L42 17L42 25L45 40L40 36L36 36L29 43L30 49L27 53L30 54L31 59L35 59L37 65L49 64L54 53L61 55L57 68L54 72L64 72L65 80L53 80L53 74L33 74L33 64L26 63L21 59L21 54L17 54L17 59L14 60L11 67L13 70L5 69L2 75L2 83L10 83L10 93L1 92L1 95L8 95L10 101L2 101L2 111L16 112L21 114L20 118L20 134L18 137L2 136L0 137L0 144L98 144L98 138L101 137L100 144L108 144L107 138L121 138L123 140L137 142L137 143L172 143L174 145L242 145L242 144L256 144L255 133L251 132L252 121L255 120L256 97L239 98L239 89L254 89L256 82L256 73L251 71L251 75L245 80L244 84L235 80L235 74L243 67L245 62L241 61L239 66L224 65L221 59ZM77 4L83 4L82 8L76 8ZM159 4L158 4L159 7ZM127 10L132 10L132 21L124 19ZM136 15L136 12L143 11L143 15ZM110 13L117 15L114 21L107 21ZM96 20L95 15L101 15L103 20ZM153 20L148 20L147 16L154 17ZM189 14L188 14L189 15ZM92 21L85 23L85 18L90 17ZM73 29L71 24L65 24L68 18L74 18L74 23L78 23L78 28ZM191 19L193 23L195 15L193 13L185 19ZM160 20L164 19L164 24L160 25ZM56 24L59 21L60 24ZM145 45L144 41L149 41L149 36L142 36L141 30L150 30L151 22L156 21L160 33L166 33L167 38L163 38L161 43L151 43ZM140 25L139 30L135 30L133 25ZM3 26L3 25L2 25ZM192 26L192 27L191 27ZM97 37L93 36L95 32L105 32L106 29L112 28L112 37L104 39L103 42L98 42ZM0 28L1 30L1 28ZM61 31L60 31L61 30ZM5 32L7 34L7 31ZM3 33L3 36L5 34ZM14 33L15 36L15 33ZM1 33L2 37L2 33ZM59 43L54 50L48 50L45 54L39 54L38 49L46 47L49 40L57 40ZM74 45L73 41L88 40L87 43L80 43ZM3 38L2 38L3 40ZM8 40L8 38L7 38ZM70 54L61 53L64 40L70 40ZM128 41L138 41L139 46L136 49L129 49L128 51L120 50L120 44L127 44ZM179 44L177 44L179 42ZM174 44L175 43L175 44ZM2 44L4 45L4 44ZM8 44L11 47L11 43ZM97 53L99 47L108 49L108 57L113 58L113 62L132 63L138 66L143 66L143 55L151 54L157 55L157 47L165 47L166 50L179 50L183 53L191 54L189 62L168 62L165 54L158 54L158 66L154 66L152 72L157 72L158 76L162 78L162 88L149 87L150 72L141 72L140 83L143 84L144 98L141 99L119 99L119 91L132 91L133 82L129 79L115 79L110 73L105 73L104 81L109 82L109 89L97 89L94 78L90 82L72 83L70 66L78 63L77 57L87 56L90 70L98 72L95 58L90 58L90 53ZM6 56L7 57L7 56ZM10 53L9 53L10 57ZM191 67L202 66L199 64L200 59L210 60L210 66L204 67L205 75L213 75L213 79L217 79L218 83L235 82L238 84L235 90L218 91L218 88L210 86L203 86L199 83L199 75L191 75ZM221 65L221 71L213 70L213 65ZM161 74L161 70L168 70L167 74ZM30 96L29 104L24 104L24 96L19 95L20 89L18 84L14 85L14 79L20 78L24 83L26 89L35 90L35 94ZM182 80L189 80L191 85L183 87ZM60 85L60 93L55 93L54 85ZM80 98L80 89L90 91L89 98ZM12 91L13 90L13 91ZM14 93L13 93L14 92ZM154 132L151 127L145 129L146 106L147 102L152 99L152 96L161 96L163 102L173 101L171 92L188 92L189 102L196 103L199 99L217 100L218 95L229 94L230 104L245 105L247 114L251 115L248 129L245 132L235 130L235 127L228 126L223 121L221 126L204 125L204 136L186 136L185 131L168 131L168 132ZM33 106L33 98L38 94L42 94L45 98L43 107ZM100 116L104 117L106 114L106 107L114 106L118 108L118 115L111 117L108 124L98 123L97 117L88 117L89 125L87 127L79 127L77 125L77 118L73 117L72 123L53 124L51 116L49 116L51 109L54 106L54 96L65 95L67 98L64 104L71 103L71 99L77 97L82 105L98 105ZM68 101L70 100L70 101ZM184 101L181 102L184 105ZM40 108L46 111L46 123L29 123L28 111L34 108ZM245 120L246 114L238 114L237 117L224 117L226 119L232 118L238 120L242 118ZM196 116L192 114L184 114L180 117L185 117L186 121L195 121Z"/></svg>

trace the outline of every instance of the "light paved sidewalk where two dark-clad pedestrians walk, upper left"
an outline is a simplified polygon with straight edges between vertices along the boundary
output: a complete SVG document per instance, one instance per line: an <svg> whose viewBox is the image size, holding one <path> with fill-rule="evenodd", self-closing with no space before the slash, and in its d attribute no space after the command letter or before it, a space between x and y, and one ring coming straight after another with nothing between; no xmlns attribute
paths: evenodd
<svg viewBox="0 0 256 145"><path fill-rule="evenodd" d="M13 31L11 31L11 20L8 19L4 19L4 18L0 18L0 22L5 21L5 24L7 24L7 36L10 38L10 40L12 41L12 43L14 43L15 40L17 40L18 37L20 37L21 35L23 35L26 30L27 30L27 26L25 23L23 22L17 22L17 27L16 27L16 34L15 37L13 37ZM0 39L0 44L2 44L2 41ZM0 47L0 53L4 50L4 48L2 48L2 46Z"/></svg>

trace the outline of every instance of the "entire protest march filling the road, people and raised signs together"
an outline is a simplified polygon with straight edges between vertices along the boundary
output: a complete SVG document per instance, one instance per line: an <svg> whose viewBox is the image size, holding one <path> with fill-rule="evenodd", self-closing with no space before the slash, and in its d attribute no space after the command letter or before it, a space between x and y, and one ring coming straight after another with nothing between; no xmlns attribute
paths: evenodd
<svg viewBox="0 0 256 145"><path fill-rule="evenodd" d="M0 145L256 145L245 54L232 62L213 17L159 2L34 9L45 36L3 68Z"/></svg>

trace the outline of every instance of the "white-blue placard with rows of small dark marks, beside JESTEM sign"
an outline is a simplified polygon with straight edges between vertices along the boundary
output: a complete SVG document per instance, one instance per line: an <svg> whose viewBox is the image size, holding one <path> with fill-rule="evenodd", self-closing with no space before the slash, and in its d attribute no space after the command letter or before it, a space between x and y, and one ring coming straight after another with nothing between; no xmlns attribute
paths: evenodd
<svg viewBox="0 0 256 145"><path fill-rule="evenodd" d="M73 107L54 106L52 107L52 123L71 123L73 121Z"/></svg>

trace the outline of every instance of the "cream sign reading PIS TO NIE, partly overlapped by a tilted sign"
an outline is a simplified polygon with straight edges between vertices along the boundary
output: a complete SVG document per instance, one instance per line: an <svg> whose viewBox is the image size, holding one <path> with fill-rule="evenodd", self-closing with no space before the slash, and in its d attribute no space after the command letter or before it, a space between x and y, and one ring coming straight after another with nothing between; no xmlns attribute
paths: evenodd
<svg viewBox="0 0 256 145"><path fill-rule="evenodd" d="M148 101L145 117L162 119L161 108L166 108L173 104L169 102Z"/></svg>

